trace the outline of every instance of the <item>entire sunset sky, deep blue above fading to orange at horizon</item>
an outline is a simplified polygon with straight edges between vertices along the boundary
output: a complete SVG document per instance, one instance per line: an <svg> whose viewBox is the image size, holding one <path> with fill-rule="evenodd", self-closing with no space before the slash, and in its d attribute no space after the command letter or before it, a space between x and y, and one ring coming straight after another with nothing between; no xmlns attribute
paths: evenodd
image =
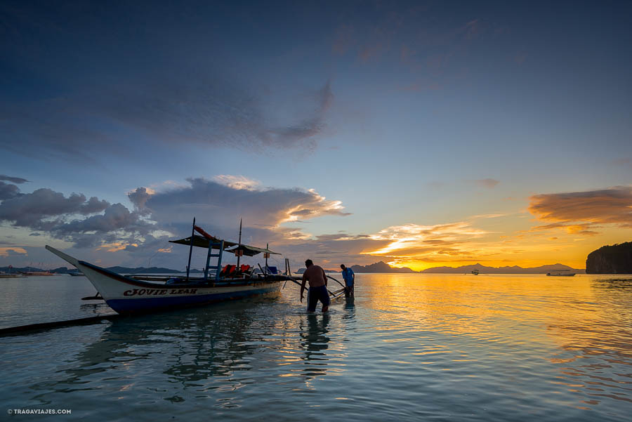
<svg viewBox="0 0 632 422"><path fill-rule="evenodd" d="M194 216L294 268L632 240L630 2L22 0L0 33L0 266L183 269Z"/></svg>

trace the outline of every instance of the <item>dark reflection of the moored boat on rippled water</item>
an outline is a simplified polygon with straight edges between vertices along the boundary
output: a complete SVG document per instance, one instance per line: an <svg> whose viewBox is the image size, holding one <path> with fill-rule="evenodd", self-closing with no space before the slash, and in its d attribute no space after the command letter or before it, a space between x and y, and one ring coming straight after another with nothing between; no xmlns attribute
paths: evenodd
<svg viewBox="0 0 632 422"><path fill-rule="evenodd" d="M97 341L62 364L68 367L62 371L66 377L31 386L34 391L46 392L34 399L46 403L49 393L85 389L81 385L99 373L105 376L113 371L120 375L122 367L134 369L137 364L145 366L143 362L152 367L160 365L161 378L183 385L230 376L236 369L248 370L244 359L260 347L253 323L265 305L261 300L244 300L113 319L105 324Z"/></svg>

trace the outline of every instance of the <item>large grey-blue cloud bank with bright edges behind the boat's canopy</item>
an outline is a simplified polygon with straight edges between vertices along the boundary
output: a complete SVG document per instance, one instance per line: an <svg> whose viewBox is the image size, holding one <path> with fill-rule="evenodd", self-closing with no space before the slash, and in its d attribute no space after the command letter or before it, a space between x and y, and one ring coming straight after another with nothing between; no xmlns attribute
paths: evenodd
<svg viewBox="0 0 632 422"><path fill-rule="evenodd" d="M199 225L225 239L236 239L242 217L244 242L282 247L311 237L282 223L348 215L340 201L315 190L264 187L257 180L230 175L213 180L190 178L187 185L165 184L158 191L138 187L127 194L133 209L48 188L6 192L0 202L0 223L25 228L33 236L72 242L77 249L97 247L139 258L159 250L170 253L167 240L187 235L194 216Z"/></svg>

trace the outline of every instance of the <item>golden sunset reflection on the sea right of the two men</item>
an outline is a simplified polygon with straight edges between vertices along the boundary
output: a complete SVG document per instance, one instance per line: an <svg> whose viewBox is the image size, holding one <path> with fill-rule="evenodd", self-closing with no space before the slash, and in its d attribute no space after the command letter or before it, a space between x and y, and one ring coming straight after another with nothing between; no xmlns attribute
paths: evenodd
<svg viewBox="0 0 632 422"><path fill-rule="evenodd" d="M417 364L447 364L459 353L454 344L436 343L423 331L467 336L485 345L494 359L527 348L516 365L547 359L558 370L548 381L577 393L577 408L589 409L600 399L632 402L632 279L580 276L555 280L534 276L365 275L374 281L367 302L383 321L379 330L398 331L390 343L412 343ZM618 294L613 294L614 290ZM388 298L386 292L392 296ZM623 295L623 298L621 297ZM496 346L494 346L496 345ZM501 350L493 350L492 346ZM552 347L553 346L553 347ZM510 349L510 350L507 350ZM437 359L437 357L442 359ZM477 362L480 352L459 354L452 362ZM428 360L430 358L430 360ZM412 362L407 362L412 363ZM554 388L551 393L555 394Z"/></svg>

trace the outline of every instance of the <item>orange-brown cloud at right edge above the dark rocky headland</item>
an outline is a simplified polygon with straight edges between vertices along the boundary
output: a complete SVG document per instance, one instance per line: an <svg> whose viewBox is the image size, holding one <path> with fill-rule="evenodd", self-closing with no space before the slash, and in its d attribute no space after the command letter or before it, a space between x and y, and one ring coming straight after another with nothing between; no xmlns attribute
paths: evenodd
<svg viewBox="0 0 632 422"><path fill-rule="evenodd" d="M537 194L529 198L529 212L548 222L533 230L563 229L594 235L600 225L632 228L632 187L614 186L586 192Z"/></svg>

